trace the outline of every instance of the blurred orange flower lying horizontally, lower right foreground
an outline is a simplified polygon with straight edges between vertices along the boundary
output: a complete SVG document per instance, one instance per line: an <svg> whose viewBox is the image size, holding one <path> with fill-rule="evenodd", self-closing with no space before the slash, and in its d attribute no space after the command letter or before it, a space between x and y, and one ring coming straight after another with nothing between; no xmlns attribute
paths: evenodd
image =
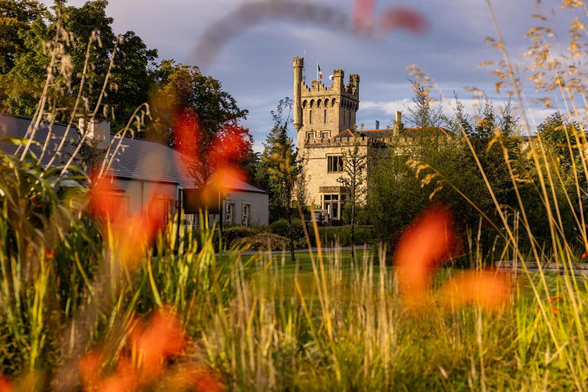
<svg viewBox="0 0 588 392"><path fill-rule="evenodd" d="M466 271L452 276L439 289L442 305L459 309L466 305L478 305L485 310L502 307L510 290L509 281L495 271Z"/></svg>

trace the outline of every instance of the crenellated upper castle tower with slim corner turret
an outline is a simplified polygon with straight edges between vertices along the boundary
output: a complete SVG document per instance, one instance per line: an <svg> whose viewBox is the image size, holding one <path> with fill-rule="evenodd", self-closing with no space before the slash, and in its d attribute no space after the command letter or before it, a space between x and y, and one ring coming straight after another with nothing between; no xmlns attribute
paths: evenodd
<svg viewBox="0 0 588 392"><path fill-rule="evenodd" d="M298 148L305 152L305 141L332 138L346 129L353 130L359 109L359 75L333 70L333 82L325 87L313 80L310 87L302 80L304 58L295 57L294 67L294 127L298 131Z"/></svg>

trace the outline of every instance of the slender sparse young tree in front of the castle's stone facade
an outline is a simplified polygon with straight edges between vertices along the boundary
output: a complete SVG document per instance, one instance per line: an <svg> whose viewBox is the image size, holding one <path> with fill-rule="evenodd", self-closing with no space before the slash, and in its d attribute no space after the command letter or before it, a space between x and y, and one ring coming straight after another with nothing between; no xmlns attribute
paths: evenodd
<svg viewBox="0 0 588 392"><path fill-rule="evenodd" d="M367 187L366 187L366 170L368 168L368 156L366 151L362 148L362 143L359 141L360 134L355 129L355 141L353 147L342 150L343 153L343 173L337 179L339 184L346 188L349 195L349 204L351 204L351 257L355 257L353 249L355 248L355 218L356 207L363 202ZM363 129L363 124L361 125Z"/></svg>

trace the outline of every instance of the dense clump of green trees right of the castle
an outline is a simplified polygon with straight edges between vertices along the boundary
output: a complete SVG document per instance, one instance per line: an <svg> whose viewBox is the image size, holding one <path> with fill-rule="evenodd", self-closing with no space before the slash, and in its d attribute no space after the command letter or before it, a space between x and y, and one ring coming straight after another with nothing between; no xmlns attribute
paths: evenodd
<svg viewBox="0 0 588 392"><path fill-rule="evenodd" d="M374 158L366 208L377 238L393 245L398 234L426 205L439 204L455 214L465 244L468 237L479 235L480 243L490 251L504 241L504 233L487 181L511 227L522 225L516 186L533 228L533 241L541 245L550 242L549 215L537 191L539 174L533 160L527 157L529 144L525 143L526 136L510 100L496 107L489 97L483 96L474 113L468 114L456 96L454 109L455 117L446 117L442 107L432 104L429 92L416 86L409 110L412 125L425 130L443 126L449 136L436 137L436 133L420 129L409 143L401 131L392 146L395 153ZM579 129L577 124L567 127L570 134L571 129ZM577 148L571 148L570 154L563 128L561 116L556 113L537 129L547 156L547 162L541 163L550 166L554 177L556 173L560 175L561 186L552 190L560 206L568 204L566 192L574 196L577 193L572 160L577 160L576 168L582 167ZM550 203L553 205L554 201ZM572 235L571 212L562 214L561 219L564 227L569 228L566 235ZM519 239L522 244L530 244L523 229Z"/></svg>

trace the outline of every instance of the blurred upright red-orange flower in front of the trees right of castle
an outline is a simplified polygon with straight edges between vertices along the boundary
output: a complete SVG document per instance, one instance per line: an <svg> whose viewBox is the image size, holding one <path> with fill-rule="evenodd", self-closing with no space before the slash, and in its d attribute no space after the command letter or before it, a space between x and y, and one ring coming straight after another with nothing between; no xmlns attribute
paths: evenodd
<svg viewBox="0 0 588 392"><path fill-rule="evenodd" d="M399 289L405 305L419 310L429 297L431 268L449 256L455 246L453 221L443 209L425 211L404 232L395 252Z"/></svg>

